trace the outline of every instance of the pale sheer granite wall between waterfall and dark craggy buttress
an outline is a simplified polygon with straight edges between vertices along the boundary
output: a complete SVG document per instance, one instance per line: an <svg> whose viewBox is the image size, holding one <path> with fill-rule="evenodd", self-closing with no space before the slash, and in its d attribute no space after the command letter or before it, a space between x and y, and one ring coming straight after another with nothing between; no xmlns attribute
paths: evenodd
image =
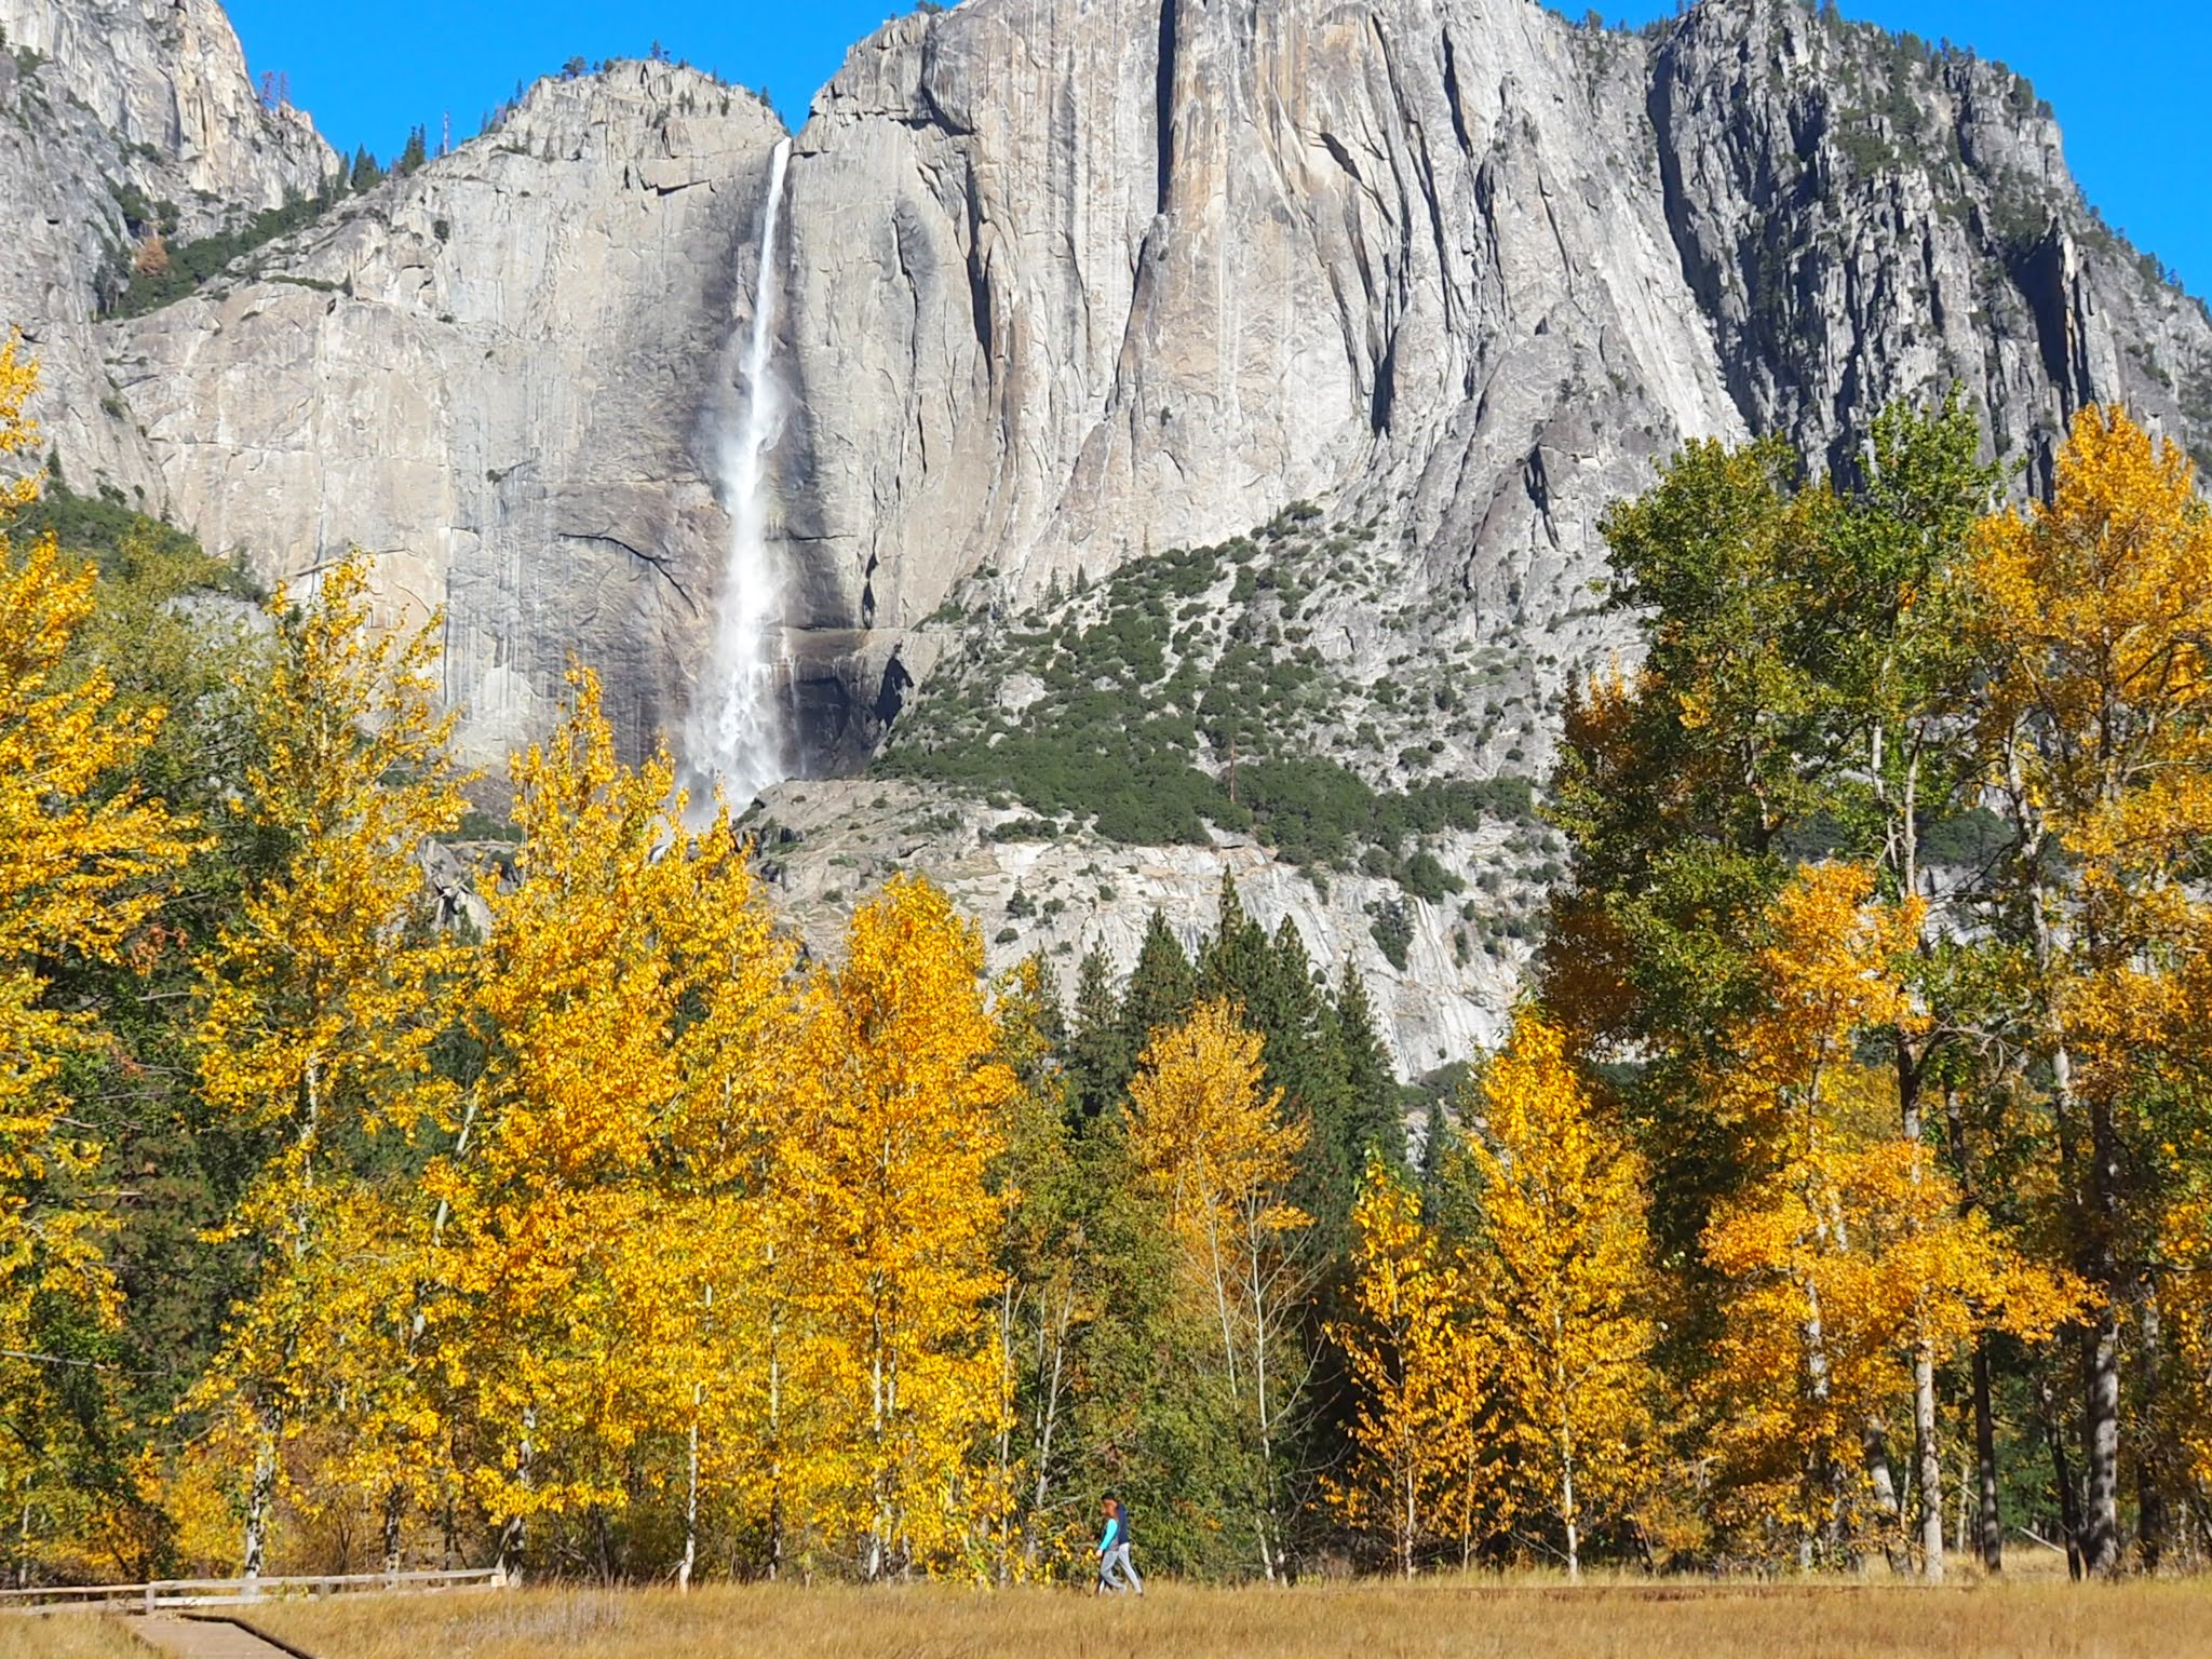
<svg viewBox="0 0 2212 1659"><path fill-rule="evenodd" d="M975 0L854 51L792 164L792 562L878 655L1298 498L1542 628L1606 500L1741 434L1641 46L1531 0ZM1509 597L1511 595L1511 597Z"/></svg>

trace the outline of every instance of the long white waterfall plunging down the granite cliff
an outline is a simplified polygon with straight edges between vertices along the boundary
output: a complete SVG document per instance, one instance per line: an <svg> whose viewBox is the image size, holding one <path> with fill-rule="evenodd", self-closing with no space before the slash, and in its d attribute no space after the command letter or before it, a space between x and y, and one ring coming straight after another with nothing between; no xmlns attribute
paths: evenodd
<svg viewBox="0 0 2212 1659"><path fill-rule="evenodd" d="M783 270L776 263L776 228L783 217L783 173L792 142L783 139L768 164L768 208L761 217L761 268L752 292L752 325L737 363L739 409L721 427L719 495L730 515L730 549L721 571L721 604L714 615L714 655L690 721L690 761L701 783L717 779L739 812L770 783L790 776L779 670L787 672L770 635L783 622L783 575L768 549L768 451L783 429L783 389L772 354L776 312L783 303Z"/></svg>

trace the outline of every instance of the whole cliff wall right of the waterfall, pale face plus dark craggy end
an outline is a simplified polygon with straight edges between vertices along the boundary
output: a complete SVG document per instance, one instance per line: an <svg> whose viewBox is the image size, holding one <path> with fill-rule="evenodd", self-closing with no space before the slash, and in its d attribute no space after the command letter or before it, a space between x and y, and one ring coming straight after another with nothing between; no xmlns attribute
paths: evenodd
<svg viewBox="0 0 2212 1659"><path fill-rule="evenodd" d="M1533 0L971 0L816 102L792 257L799 622L874 661L978 568L1035 595L1298 498L1533 653L1681 438L1847 465L1953 380L2044 469L2090 398L2212 436L2212 327L2026 84L1792 0L1641 38Z"/></svg>

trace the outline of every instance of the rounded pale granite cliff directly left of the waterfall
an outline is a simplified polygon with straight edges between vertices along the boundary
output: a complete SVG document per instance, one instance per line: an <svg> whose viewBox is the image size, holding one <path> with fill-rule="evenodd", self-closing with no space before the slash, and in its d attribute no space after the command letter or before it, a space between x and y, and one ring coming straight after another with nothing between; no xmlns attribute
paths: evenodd
<svg viewBox="0 0 2212 1659"><path fill-rule="evenodd" d="M374 551L387 622L445 613L447 695L493 787L571 661L633 745L672 732L726 533L701 422L781 137L688 69L540 82L259 281L115 325L179 522L265 580Z"/></svg>

